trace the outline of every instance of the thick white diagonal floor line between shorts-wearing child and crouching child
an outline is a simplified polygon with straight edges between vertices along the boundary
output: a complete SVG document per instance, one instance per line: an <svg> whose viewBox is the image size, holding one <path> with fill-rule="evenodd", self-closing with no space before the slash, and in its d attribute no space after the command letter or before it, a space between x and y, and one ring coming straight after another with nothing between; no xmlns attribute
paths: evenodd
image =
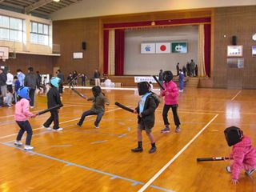
<svg viewBox="0 0 256 192"><path fill-rule="evenodd" d="M162 172L165 171L165 170L168 168L168 166L170 166L170 164L171 164L172 162L174 162L174 160L175 160L176 158L178 158L178 156L179 156L180 154L182 154L183 151L186 150L186 148L187 148L188 146L190 146L190 144L191 144L192 142L194 142L194 140L195 140L196 138L198 138L198 136L199 136L200 134L202 134L202 131L204 131L204 130L206 129L206 127L209 126L210 123L213 122L214 119L217 118L217 117L218 117L218 114L215 114L214 118L212 118L212 119L210 120L210 122L208 122L208 123L206 124L206 126L204 126L204 127L202 128L202 130L200 130L200 131L198 132L198 134L196 134L196 135L194 136L194 138L192 138L192 139L190 140L190 142L188 142L188 143L186 144L186 146L184 146L184 147L182 148L182 150L180 150L180 151L178 152L178 154L176 154L176 155L174 156L174 158L170 159L170 161L167 162L166 165L163 166L162 169L159 170L157 174L154 174L153 178L150 178L150 181L146 182L146 184L145 184L144 186L142 186L142 188L141 188L140 190L138 190L138 192L142 192L142 191L146 190L146 188L149 187L149 186L152 184L152 182L154 182L154 180L157 179L157 178L159 177L159 175L162 174Z"/></svg>

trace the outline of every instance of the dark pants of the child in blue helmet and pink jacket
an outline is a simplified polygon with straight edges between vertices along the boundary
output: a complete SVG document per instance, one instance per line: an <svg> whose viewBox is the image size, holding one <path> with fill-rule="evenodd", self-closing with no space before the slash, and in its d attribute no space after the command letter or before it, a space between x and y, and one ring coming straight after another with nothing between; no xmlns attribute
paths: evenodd
<svg viewBox="0 0 256 192"><path fill-rule="evenodd" d="M33 134L32 128L30 126L30 122L26 120L25 122L17 122L17 123L21 129L18 132L18 136L17 136L16 140L20 141L22 139L24 132L26 131L26 145L30 146L31 138L32 138L32 134Z"/></svg>

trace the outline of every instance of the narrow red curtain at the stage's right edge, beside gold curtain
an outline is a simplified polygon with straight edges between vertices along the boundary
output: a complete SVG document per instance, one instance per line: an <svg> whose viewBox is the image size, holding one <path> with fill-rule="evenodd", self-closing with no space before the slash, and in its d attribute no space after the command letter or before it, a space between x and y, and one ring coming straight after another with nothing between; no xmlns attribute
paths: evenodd
<svg viewBox="0 0 256 192"><path fill-rule="evenodd" d="M205 66L206 74L210 77L210 24L205 24Z"/></svg>

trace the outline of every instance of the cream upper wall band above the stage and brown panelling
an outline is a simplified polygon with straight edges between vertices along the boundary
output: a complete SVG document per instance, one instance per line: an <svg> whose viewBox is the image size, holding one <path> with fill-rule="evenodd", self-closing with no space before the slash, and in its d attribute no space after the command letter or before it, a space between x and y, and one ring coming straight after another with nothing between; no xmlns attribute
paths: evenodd
<svg viewBox="0 0 256 192"><path fill-rule="evenodd" d="M256 5L255 0L83 0L67 6L54 14L53 20L90 18L114 14L135 14L165 10L189 10L221 6ZM150 20L150 19L149 19Z"/></svg>

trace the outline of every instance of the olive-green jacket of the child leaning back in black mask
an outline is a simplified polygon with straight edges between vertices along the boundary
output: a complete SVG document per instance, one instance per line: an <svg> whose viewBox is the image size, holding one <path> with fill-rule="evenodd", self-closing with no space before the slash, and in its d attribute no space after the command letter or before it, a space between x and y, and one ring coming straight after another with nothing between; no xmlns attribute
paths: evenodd
<svg viewBox="0 0 256 192"><path fill-rule="evenodd" d="M99 94L96 98L94 96L87 98L87 101L94 102L90 110L94 111L95 113L105 112L105 103L110 103L109 99L106 98L103 94Z"/></svg>

